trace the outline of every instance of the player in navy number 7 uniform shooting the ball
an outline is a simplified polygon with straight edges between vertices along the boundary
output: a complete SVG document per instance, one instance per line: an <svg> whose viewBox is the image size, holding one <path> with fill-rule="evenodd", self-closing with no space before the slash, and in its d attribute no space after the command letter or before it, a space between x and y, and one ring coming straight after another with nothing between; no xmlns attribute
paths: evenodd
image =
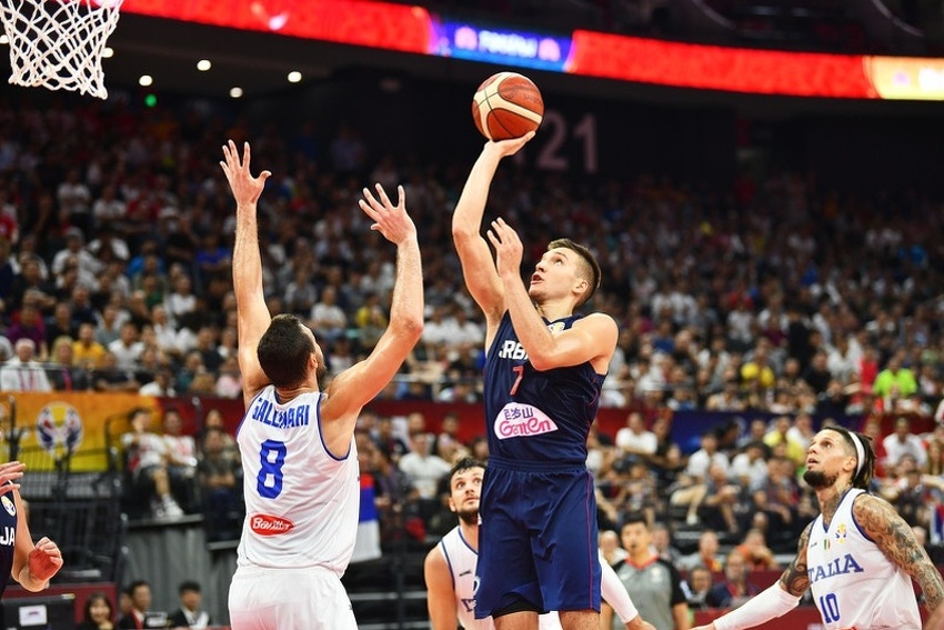
<svg viewBox="0 0 944 630"><path fill-rule="evenodd" d="M485 316L489 468L482 488L475 617L538 628L560 611L568 630L599 626L596 503L586 436L616 346L616 322L574 314L600 286L600 266L568 239L548 246L525 288L521 240L502 219L480 233L502 158L534 133L488 142L452 221L465 283ZM535 308L536 307L536 308Z"/></svg>

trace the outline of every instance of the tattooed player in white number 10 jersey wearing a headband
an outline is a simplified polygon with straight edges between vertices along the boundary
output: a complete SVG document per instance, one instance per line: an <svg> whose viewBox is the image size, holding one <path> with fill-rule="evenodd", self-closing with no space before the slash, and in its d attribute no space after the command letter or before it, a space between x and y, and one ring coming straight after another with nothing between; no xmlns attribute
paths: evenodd
<svg viewBox="0 0 944 630"><path fill-rule="evenodd" d="M816 433L803 479L816 492L821 514L801 534L796 558L777 583L695 630L753 628L793 610L807 588L826 630L918 630L912 578L937 619L941 574L895 509L865 491L874 469L865 436L842 427Z"/></svg>

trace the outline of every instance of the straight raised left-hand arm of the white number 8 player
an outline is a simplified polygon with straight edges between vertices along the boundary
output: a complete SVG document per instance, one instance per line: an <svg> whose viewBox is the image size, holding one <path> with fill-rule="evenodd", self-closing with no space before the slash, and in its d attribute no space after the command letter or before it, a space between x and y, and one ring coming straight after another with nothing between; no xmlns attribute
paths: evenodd
<svg viewBox="0 0 944 630"><path fill-rule="evenodd" d="M249 142L243 144L243 153L240 157L235 144L230 140L223 147L223 158L220 166L237 202L233 290L239 330L239 369L242 372L243 399L249 404L259 390L269 384L255 353L259 340L271 321L262 293L262 258L259 254L255 211L265 180L272 173L262 171L259 177L252 177L249 171Z"/></svg>

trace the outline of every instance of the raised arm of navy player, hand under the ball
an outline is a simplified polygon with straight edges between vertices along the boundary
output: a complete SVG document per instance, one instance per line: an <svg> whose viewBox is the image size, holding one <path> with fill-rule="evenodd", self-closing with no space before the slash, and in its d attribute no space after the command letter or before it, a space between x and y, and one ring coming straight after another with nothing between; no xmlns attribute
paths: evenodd
<svg viewBox="0 0 944 630"><path fill-rule="evenodd" d="M465 286L484 312L491 333L486 334L486 343L492 339L501 321L505 304L502 283L495 272L489 243L482 238L482 216L485 212L489 189L499 162L505 156L516 153L533 137L532 131L521 138L485 143L469 173L452 216L452 240L459 253L459 261L462 263Z"/></svg>

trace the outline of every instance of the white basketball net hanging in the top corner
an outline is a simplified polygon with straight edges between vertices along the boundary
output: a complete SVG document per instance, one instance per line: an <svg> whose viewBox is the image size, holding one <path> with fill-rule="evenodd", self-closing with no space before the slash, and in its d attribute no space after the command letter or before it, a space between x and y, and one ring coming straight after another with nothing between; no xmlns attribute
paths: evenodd
<svg viewBox="0 0 944 630"><path fill-rule="evenodd" d="M122 0L0 0L10 82L108 98L101 61Z"/></svg>

